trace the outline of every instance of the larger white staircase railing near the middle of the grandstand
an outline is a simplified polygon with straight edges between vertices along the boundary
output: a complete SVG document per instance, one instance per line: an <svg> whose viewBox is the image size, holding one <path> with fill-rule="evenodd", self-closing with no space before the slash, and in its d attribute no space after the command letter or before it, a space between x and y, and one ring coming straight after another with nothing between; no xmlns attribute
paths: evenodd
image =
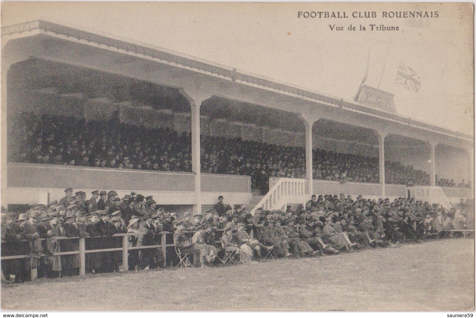
<svg viewBox="0 0 476 318"><path fill-rule="evenodd" d="M258 208L286 211L288 203L304 203L305 181L305 179L279 178L250 213L254 215Z"/></svg>

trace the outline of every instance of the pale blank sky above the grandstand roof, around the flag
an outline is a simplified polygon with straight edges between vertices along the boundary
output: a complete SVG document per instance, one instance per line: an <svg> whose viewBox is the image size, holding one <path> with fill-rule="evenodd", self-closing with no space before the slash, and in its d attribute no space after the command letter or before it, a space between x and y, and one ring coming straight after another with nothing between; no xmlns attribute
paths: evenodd
<svg viewBox="0 0 476 318"><path fill-rule="evenodd" d="M349 18L298 18L299 11ZM352 18L369 11L376 18ZM438 11L438 18L383 19L384 11ZM395 94L397 113L474 131L471 3L2 2L1 18L2 26L44 19L98 30L345 99L356 94L369 56L366 84ZM420 76L417 93L394 85L400 61Z"/></svg>

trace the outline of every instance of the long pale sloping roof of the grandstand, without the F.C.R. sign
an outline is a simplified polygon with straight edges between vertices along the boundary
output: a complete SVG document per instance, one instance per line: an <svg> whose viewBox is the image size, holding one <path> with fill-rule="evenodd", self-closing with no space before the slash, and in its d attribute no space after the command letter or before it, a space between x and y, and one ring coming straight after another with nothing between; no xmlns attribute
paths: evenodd
<svg viewBox="0 0 476 318"><path fill-rule="evenodd" d="M7 55L10 52L24 56L23 59L35 56L106 72L114 70L112 72L117 74L142 76L143 80L169 87L191 86L206 89L212 96L287 112L313 112L327 121L456 147L471 147L474 143L474 137L471 135L353 100L280 83L165 48L99 33L44 20L1 28L4 52L7 52ZM15 44L7 43L10 40L14 40ZM105 53L105 50L109 53ZM5 53L2 56L5 56Z"/></svg>

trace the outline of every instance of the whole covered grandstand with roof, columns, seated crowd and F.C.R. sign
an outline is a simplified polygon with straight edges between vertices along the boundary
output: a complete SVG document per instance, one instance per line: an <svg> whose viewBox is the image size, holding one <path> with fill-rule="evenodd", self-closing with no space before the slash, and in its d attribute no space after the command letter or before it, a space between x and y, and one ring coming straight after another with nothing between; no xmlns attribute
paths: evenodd
<svg viewBox="0 0 476 318"><path fill-rule="evenodd" d="M344 100L42 20L2 37L4 206L67 187L141 191L178 211L218 195L253 209L274 186L279 209L312 193L446 207L472 197L473 137L400 116L368 86Z"/></svg>

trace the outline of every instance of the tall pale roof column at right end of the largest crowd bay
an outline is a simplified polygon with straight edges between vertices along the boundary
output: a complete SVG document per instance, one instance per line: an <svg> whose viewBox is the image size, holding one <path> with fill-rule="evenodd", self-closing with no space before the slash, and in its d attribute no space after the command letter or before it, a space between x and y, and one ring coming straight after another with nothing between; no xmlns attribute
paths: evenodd
<svg viewBox="0 0 476 318"><path fill-rule="evenodd" d="M195 195L196 205L193 207L193 214L199 214L202 210L201 204L201 171L200 171L200 106L203 101L211 97L205 92L195 90L181 89L190 103L191 110L191 132L192 132L192 172L195 172Z"/></svg>

